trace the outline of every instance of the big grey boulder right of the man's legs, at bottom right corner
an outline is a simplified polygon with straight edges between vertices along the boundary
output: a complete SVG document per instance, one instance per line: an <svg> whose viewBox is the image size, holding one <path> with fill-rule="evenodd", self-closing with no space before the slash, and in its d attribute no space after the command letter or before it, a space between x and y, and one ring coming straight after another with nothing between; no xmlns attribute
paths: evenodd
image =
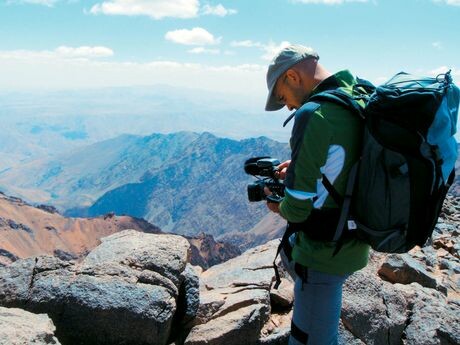
<svg viewBox="0 0 460 345"><path fill-rule="evenodd" d="M411 253L412 259L416 260L420 252L421 249L416 249ZM390 257L372 254L369 265L353 274L344 286L342 321L345 327L356 338L372 345L460 344L457 288L446 287L444 291L438 283L430 287L420 285L420 281L426 282L426 269L417 270L420 276L410 269L412 278L401 279L405 284L382 280L378 274L389 270L388 261L410 262L413 267L421 267L418 265L421 261L415 263L412 259L407 260L407 254ZM399 270L401 265L394 267ZM443 273L439 266L435 268L433 277L446 281L442 276L448 272ZM395 276L398 274L400 272Z"/></svg>

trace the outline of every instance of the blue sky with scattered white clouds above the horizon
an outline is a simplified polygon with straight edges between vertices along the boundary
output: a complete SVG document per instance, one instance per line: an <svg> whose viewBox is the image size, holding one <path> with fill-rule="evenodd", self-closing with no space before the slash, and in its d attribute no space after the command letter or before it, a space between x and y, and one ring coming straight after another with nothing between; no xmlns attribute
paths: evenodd
<svg viewBox="0 0 460 345"><path fill-rule="evenodd" d="M331 72L460 80L460 0L2 0L0 91L170 84L251 95L290 43Z"/></svg>

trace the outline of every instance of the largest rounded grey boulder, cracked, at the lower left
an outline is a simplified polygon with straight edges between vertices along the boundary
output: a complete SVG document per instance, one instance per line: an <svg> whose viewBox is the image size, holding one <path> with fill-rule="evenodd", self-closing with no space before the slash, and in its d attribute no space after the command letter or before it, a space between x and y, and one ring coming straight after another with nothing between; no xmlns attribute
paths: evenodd
<svg viewBox="0 0 460 345"><path fill-rule="evenodd" d="M188 258L183 237L126 230L78 264L37 257L0 268L0 305L49 314L66 344L167 344L179 315L198 308Z"/></svg>

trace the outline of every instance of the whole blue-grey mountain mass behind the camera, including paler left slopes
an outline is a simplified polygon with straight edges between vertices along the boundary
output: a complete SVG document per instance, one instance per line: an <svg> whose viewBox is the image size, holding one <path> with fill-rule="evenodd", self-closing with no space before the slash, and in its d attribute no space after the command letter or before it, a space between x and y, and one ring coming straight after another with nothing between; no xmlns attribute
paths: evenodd
<svg viewBox="0 0 460 345"><path fill-rule="evenodd" d="M218 236L249 230L267 213L264 203L248 202L254 179L243 171L247 158L260 155L287 159L288 145L206 132L124 135L11 169L0 186L68 216L115 212L165 231Z"/></svg>

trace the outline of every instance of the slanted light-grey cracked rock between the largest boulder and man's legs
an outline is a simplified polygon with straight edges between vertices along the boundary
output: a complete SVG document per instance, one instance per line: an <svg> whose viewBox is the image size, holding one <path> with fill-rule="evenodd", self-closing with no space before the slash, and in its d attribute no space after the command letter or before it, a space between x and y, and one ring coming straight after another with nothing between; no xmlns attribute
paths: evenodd
<svg viewBox="0 0 460 345"><path fill-rule="evenodd" d="M287 339L286 330L266 327L272 317L272 262L278 244L271 241L201 274L200 308L185 344L276 344Z"/></svg>

